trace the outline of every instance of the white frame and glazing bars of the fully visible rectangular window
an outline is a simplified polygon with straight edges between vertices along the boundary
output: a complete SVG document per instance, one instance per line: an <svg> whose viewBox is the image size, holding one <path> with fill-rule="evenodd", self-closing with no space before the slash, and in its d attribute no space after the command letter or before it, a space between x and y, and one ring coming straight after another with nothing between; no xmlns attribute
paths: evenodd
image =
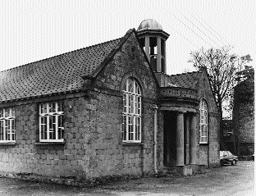
<svg viewBox="0 0 256 196"><path fill-rule="evenodd" d="M50 112L50 104L53 104L56 108L55 112ZM42 107L46 106L46 111L42 112ZM45 108L45 107L43 107ZM61 108L61 111L58 111L59 108ZM59 102L51 102L51 103L40 103L39 104L39 142L64 142L63 134L64 134L64 127L63 127L63 121L61 120L61 127L58 125L58 116L63 116L64 112L62 111L62 103ZM50 129L50 117L53 116L55 118L55 132ZM46 123L43 123L43 121L46 119ZM62 118L61 118L62 119ZM43 138L42 135L42 125L46 126L46 139ZM53 125L53 123L52 123ZM61 138L58 138L58 130L61 129ZM55 134L55 139L50 139L50 133Z"/></svg>

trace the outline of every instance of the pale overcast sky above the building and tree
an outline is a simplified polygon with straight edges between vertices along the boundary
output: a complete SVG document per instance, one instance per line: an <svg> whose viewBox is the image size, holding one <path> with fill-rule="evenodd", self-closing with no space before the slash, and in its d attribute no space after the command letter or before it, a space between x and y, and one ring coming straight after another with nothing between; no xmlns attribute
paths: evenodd
<svg viewBox="0 0 256 196"><path fill-rule="evenodd" d="M231 44L256 61L255 10L254 0L0 0L0 71L120 38L149 18L170 34L167 74L194 71L187 61L201 47Z"/></svg>

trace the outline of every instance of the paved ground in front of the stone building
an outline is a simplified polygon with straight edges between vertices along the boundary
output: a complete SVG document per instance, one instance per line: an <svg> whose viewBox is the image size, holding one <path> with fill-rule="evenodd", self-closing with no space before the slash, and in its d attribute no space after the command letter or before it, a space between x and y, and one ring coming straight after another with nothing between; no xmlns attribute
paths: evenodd
<svg viewBox="0 0 256 196"><path fill-rule="evenodd" d="M96 188L77 188L30 181L0 178L0 195L256 195L254 194L254 162L238 162L237 166L214 168L206 174L167 176L129 180Z"/></svg>

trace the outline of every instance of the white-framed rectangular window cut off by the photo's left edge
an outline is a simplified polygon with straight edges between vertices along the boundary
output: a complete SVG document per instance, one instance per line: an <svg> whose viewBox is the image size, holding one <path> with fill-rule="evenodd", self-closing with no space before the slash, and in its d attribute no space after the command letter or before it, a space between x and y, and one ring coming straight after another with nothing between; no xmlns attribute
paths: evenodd
<svg viewBox="0 0 256 196"><path fill-rule="evenodd" d="M6 115L9 110L9 115ZM9 125L8 125L9 123ZM16 127L15 127L15 109L13 107L0 108L0 144L16 142ZM9 129L8 129L9 127Z"/></svg>

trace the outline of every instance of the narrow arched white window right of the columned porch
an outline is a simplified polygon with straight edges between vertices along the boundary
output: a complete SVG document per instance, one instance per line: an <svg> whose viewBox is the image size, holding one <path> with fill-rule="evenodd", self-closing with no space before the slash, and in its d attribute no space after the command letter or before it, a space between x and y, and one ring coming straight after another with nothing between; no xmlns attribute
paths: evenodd
<svg viewBox="0 0 256 196"><path fill-rule="evenodd" d="M199 122L199 131L200 131L200 144L208 144L208 109L207 103L205 100L200 102L200 122Z"/></svg>

